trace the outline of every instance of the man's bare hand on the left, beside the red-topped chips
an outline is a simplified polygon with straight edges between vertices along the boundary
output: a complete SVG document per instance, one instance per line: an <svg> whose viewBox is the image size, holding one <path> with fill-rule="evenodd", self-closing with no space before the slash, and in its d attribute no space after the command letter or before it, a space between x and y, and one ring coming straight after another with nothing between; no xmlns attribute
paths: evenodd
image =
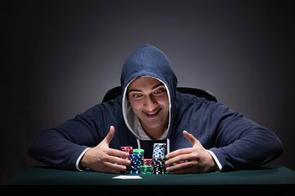
<svg viewBox="0 0 295 196"><path fill-rule="evenodd" d="M81 159L80 166L95 172L120 173L131 164L130 160L124 159L129 153L109 147L115 134L115 127L111 126L108 135L96 147L86 151ZM120 158L122 157L122 158Z"/></svg>

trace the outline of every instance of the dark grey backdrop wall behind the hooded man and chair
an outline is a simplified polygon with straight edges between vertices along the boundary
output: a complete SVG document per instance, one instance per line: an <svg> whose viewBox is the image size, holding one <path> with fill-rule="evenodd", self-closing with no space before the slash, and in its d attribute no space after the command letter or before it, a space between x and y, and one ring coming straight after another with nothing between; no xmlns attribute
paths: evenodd
<svg viewBox="0 0 295 196"><path fill-rule="evenodd" d="M1 181L39 165L27 155L32 138L100 103L144 43L170 58L178 86L208 90L273 130L285 152L270 164L295 170L294 7L286 2L6 1Z"/></svg>

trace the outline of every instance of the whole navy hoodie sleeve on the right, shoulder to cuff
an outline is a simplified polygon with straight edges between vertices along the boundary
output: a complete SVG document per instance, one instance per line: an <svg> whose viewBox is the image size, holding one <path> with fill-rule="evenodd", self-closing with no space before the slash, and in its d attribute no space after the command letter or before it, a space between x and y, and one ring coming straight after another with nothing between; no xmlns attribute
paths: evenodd
<svg viewBox="0 0 295 196"><path fill-rule="evenodd" d="M271 130L228 106L214 104L211 110L216 129L215 147L210 148L219 160L222 171L254 169L283 153L280 139Z"/></svg>

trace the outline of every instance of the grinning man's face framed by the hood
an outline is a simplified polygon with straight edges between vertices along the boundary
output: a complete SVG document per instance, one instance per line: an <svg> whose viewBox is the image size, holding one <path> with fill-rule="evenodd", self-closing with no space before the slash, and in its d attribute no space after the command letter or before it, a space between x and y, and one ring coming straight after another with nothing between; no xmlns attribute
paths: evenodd
<svg viewBox="0 0 295 196"><path fill-rule="evenodd" d="M138 77L128 89L128 99L144 127L168 126L169 100L162 82L153 77Z"/></svg>

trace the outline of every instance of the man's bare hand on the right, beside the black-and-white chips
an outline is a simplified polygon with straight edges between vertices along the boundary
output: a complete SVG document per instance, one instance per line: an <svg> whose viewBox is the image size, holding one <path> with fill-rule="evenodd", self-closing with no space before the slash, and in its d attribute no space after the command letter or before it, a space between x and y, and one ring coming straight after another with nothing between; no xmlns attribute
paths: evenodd
<svg viewBox="0 0 295 196"><path fill-rule="evenodd" d="M167 167L166 171L172 174L218 171L216 162L202 144L187 131L183 131L183 135L192 143L192 147L178 149L167 154L166 158L169 160L165 162L165 165L170 167ZM172 166L175 163L177 164Z"/></svg>

